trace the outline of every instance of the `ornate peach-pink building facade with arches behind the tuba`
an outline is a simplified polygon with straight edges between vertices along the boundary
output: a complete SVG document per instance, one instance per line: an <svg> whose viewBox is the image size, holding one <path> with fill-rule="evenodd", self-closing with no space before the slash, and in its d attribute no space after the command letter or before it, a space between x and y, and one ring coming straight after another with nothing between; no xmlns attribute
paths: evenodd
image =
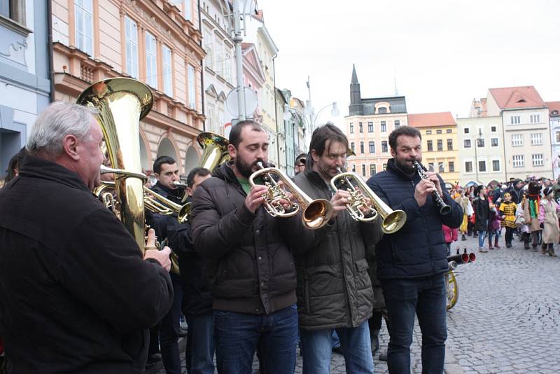
<svg viewBox="0 0 560 374"><path fill-rule="evenodd" d="M140 123L141 165L160 155L186 174L202 152L202 34L195 1L52 0L55 99L130 76L148 84L152 111Z"/></svg>

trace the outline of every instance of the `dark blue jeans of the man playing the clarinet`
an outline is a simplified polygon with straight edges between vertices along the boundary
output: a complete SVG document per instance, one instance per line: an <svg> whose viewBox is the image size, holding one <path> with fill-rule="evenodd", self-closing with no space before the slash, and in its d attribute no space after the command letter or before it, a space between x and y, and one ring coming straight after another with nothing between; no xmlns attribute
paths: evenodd
<svg viewBox="0 0 560 374"><path fill-rule="evenodd" d="M447 296L444 275L414 279L381 279L391 323L389 373L410 373L414 314L422 331L422 373L443 373L447 339Z"/></svg>

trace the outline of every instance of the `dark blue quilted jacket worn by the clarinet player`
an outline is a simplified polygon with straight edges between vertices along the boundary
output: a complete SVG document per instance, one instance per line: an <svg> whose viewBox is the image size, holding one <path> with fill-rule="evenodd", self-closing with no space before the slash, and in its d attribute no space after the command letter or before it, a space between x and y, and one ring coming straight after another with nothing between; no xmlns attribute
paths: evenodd
<svg viewBox="0 0 560 374"><path fill-rule="evenodd" d="M426 204L419 207L414 199L414 188L420 176L414 174L414 179L410 179L395 166L393 158L388 160L385 172L367 181L391 209L402 209L407 214L405 226L394 234L384 235L375 247L379 279L427 277L447 271L442 223L458 228L463 221L463 209L447 193L443 179L438 177L444 191L442 198L451 206L451 212L445 216L440 214L431 195L426 198Z"/></svg>

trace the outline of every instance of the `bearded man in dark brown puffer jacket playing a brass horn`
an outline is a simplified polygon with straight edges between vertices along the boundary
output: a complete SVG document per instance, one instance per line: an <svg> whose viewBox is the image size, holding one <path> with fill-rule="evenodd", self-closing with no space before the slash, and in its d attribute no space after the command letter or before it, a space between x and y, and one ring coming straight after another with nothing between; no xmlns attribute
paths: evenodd
<svg viewBox="0 0 560 374"><path fill-rule="evenodd" d="M193 194L195 250L208 264L214 296L218 373L252 373L255 350L264 373L292 374L297 342L293 252L313 237L301 213L274 218L262 207L266 186L250 186L266 165L268 137L244 120L230 133L231 162ZM288 208L288 201L281 202Z"/></svg>

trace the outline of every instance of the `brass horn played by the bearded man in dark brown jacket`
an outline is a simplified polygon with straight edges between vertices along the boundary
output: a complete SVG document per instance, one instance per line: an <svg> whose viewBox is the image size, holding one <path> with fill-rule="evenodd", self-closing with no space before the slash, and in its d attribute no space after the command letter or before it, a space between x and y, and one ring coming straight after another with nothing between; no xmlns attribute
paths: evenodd
<svg viewBox="0 0 560 374"><path fill-rule="evenodd" d="M328 223L332 213L332 205L325 199L312 200L309 196L297 187L291 179L283 174L280 169L276 167L264 167L262 162L257 162L258 170L251 174L249 183L255 186L255 178L261 176L265 181L265 186L268 190L263 195L265 198L265 210L273 217L291 217L297 214L302 209L302 221L306 228L316 230ZM274 176L277 177L284 185L288 187L289 192L297 200L293 202L288 198L288 191L281 186ZM290 204L290 209L284 209L281 200L287 200Z"/></svg>

